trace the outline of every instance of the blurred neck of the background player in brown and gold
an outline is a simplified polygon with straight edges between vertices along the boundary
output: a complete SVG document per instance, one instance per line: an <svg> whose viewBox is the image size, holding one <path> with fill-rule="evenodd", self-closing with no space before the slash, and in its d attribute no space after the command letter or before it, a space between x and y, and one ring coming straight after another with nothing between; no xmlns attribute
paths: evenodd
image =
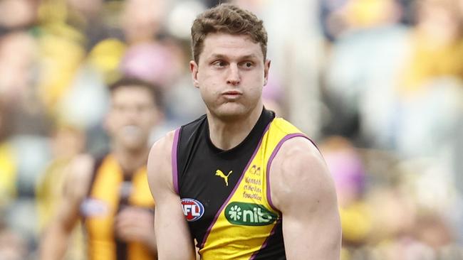
<svg viewBox="0 0 463 260"><path fill-rule="evenodd" d="M113 149L113 155L116 160L118 160L118 163L125 173L135 173L138 168L144 166L147 161L148 152L148 147L143 147L137 150L128 150L115 146Z"/></svg>

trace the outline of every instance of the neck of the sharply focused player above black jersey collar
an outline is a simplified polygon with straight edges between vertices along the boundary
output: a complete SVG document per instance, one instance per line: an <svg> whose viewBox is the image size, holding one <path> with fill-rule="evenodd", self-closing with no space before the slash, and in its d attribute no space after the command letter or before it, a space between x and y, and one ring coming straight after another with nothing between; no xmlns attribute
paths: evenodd
<svg viewBox="0 0 463 260"><path fill-rule="evenodd" d="M214 146L222 150L229 150L239 145L256 125L262 107L262 105L257 105L246 117L233 121L222 121L208 112L209 137Z"/></svg>

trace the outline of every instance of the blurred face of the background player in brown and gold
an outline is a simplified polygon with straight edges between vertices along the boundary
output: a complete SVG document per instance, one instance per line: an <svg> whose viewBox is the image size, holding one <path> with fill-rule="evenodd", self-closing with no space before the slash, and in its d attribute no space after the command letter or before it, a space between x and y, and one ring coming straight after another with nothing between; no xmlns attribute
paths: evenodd
<svg viewBox="0 0 463 260"><path fill-rule="evenodd" d="M129 150L145 148L159 112L143 87L120 87L111 96L107 126L113 141Z"/></svg>

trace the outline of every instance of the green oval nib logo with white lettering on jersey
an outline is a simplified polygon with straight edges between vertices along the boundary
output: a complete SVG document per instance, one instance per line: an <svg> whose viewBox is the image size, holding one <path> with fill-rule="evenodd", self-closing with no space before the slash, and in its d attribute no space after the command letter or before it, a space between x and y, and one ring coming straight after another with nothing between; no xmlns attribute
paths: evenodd
<svg viewBox="0 0 463 260"><path fill-rule="evenodd" d="M231 202L225 208L225 217L231 224L265 226L275 222L277 216L263 205Z"/></svg>

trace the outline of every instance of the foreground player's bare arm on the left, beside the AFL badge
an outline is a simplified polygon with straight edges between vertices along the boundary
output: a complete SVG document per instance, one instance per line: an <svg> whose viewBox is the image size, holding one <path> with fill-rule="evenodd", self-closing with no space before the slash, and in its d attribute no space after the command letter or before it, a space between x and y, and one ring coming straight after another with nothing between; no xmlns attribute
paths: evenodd
<svg viewBox="0 0 463 260"><path fill-rule="evenodd" d="M155 199L155 233L159 259L194 259L194 246L180 197L172 184L172 136L153 145L148 158L148 183ZM181 249L181 250L180 250Z"/></svg>

